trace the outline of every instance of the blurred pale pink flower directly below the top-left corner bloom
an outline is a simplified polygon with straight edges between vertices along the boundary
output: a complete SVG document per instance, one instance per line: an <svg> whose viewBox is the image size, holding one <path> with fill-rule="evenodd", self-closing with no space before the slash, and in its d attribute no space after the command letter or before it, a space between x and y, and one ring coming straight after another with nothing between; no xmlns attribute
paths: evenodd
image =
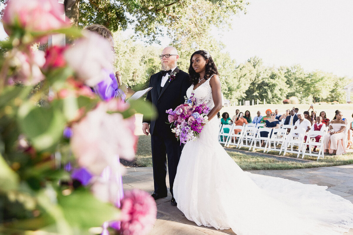
<svg viewBox="0 0 353 235"><path fill-rule="evenodd" d="M25 85L35 85L44 78L41 72L41 67L45 63L44 52L31 49L26 52L17 48L9 52L10 67L14 71L12 79Z"/></svg>

